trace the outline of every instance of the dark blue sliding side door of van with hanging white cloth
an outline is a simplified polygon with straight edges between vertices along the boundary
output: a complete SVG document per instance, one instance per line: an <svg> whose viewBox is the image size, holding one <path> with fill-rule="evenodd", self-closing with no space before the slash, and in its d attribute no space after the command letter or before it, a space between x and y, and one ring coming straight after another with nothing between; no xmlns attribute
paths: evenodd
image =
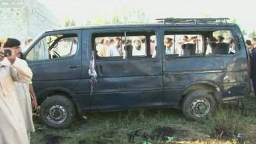
<svg viewBox="0 0 256 144"><path fill-rule="evenodd" d="M89 56L96 52L97 85L92 96L88 77L82 79L92 110L162 105L162 58L161 52L154 52L157 28L92 29L84 35L88 36Z"/></svg>

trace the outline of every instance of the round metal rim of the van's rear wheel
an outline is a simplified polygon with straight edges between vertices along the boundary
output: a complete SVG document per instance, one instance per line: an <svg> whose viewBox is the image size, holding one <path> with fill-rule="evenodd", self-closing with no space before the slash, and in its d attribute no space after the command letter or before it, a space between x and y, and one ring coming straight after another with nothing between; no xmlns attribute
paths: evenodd
<svg viewBox="0 0 256 144"><path fill-rule="evenodd" d="M196 117L206 116L211 109L209 100L205 98L195 99L191 102L191 112Z"/></svg>

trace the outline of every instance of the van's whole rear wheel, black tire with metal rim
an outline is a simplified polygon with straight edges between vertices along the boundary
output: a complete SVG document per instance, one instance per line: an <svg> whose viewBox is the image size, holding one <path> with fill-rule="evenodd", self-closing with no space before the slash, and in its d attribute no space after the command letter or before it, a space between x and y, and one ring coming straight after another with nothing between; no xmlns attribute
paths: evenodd
<svg viewBox="0 0 256 144"><path fill-rule="evenodd" d="M216 109L214 95L206 90L195 90L188 93L182 102L182 113L190 120L201 120Z"/></svg>

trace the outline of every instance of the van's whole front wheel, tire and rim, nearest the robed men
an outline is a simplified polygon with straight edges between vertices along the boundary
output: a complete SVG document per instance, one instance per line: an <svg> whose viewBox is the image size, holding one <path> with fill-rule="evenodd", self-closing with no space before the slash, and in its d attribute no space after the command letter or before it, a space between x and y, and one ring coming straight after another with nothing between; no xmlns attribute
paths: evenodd
<svg viewBox="0 0 256 144"><path fill-rule="evenodd" d="M76 118L74 104L62 95L53 95L42 102L40 120L53 129L66 129Z"/></svg>

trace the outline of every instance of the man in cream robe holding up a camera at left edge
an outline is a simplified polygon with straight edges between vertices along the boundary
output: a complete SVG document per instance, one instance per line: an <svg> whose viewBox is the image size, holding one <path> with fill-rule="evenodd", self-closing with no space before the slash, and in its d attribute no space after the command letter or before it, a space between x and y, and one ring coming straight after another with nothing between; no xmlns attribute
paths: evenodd
<svg viewBox="0 0 256 144"><path fill-rule="evenodd" d="M8 44L8 39L0 39ZM31 69L16 54L20 47L17 41L12 48L0 49L0 143L28 144L26 125L17 99L14 81L28 83L32 79ZM5 45L5 44L4 44ZM11 51L10 56L4 56L4 50Z"/></svg>

